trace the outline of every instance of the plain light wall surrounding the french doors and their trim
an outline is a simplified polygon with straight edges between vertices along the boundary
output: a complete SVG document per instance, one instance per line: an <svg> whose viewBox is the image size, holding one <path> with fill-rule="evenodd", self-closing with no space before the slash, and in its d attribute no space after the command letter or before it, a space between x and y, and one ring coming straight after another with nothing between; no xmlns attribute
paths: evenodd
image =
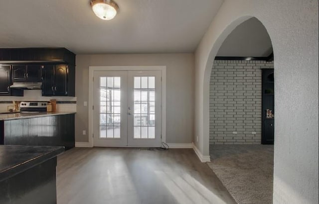
<svg viewBox="0 0 319 204"><path fill-rule="evenodd" d="M194 55L77 55L75 141L87 142L89 66L166 66L166 142L191 143L194 118Z"/></svg>

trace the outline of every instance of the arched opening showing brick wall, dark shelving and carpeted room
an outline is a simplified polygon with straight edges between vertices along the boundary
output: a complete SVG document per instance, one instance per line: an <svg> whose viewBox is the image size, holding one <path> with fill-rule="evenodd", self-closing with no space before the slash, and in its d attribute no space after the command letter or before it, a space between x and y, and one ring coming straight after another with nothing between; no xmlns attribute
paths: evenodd
<svg viewBox="0 0 319 204"><path fill-rule="evenodd" d="M255 17L224 32L208 79L208 165L236 202L271 203L274 147L262 145L274 144L271 39Z"/></svg>

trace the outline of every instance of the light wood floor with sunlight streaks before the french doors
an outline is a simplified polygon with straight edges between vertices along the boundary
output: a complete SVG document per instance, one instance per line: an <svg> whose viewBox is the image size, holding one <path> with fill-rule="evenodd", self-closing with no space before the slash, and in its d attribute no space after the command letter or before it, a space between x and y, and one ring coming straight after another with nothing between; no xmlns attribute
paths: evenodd
<svg viewBox="0 0 319 204"><path fill-rule="evenodd" d="M73 148L58 156L58 204L235 204L192 149Z"/></svg>

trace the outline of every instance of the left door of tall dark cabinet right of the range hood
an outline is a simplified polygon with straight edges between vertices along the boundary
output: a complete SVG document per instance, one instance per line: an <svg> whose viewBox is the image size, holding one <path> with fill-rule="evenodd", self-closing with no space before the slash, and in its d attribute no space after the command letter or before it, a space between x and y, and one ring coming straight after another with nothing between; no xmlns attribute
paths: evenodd
<svg viewBox="0 0 319 204"><path fill-rule="evenodd" d="M42 96L53 96L54 65L44 65L42 68Z"/></svg>

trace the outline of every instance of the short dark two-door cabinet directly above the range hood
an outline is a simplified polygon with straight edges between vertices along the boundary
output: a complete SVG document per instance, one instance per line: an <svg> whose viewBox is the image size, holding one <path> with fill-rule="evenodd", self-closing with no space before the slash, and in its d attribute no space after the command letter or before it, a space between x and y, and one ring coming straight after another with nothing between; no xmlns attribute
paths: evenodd
<svg viewBox="0 0 319 204"><path fill-rule="evenodd" d="M41 82L42 65L12 65L12 81L13 82Z"/></svg>

